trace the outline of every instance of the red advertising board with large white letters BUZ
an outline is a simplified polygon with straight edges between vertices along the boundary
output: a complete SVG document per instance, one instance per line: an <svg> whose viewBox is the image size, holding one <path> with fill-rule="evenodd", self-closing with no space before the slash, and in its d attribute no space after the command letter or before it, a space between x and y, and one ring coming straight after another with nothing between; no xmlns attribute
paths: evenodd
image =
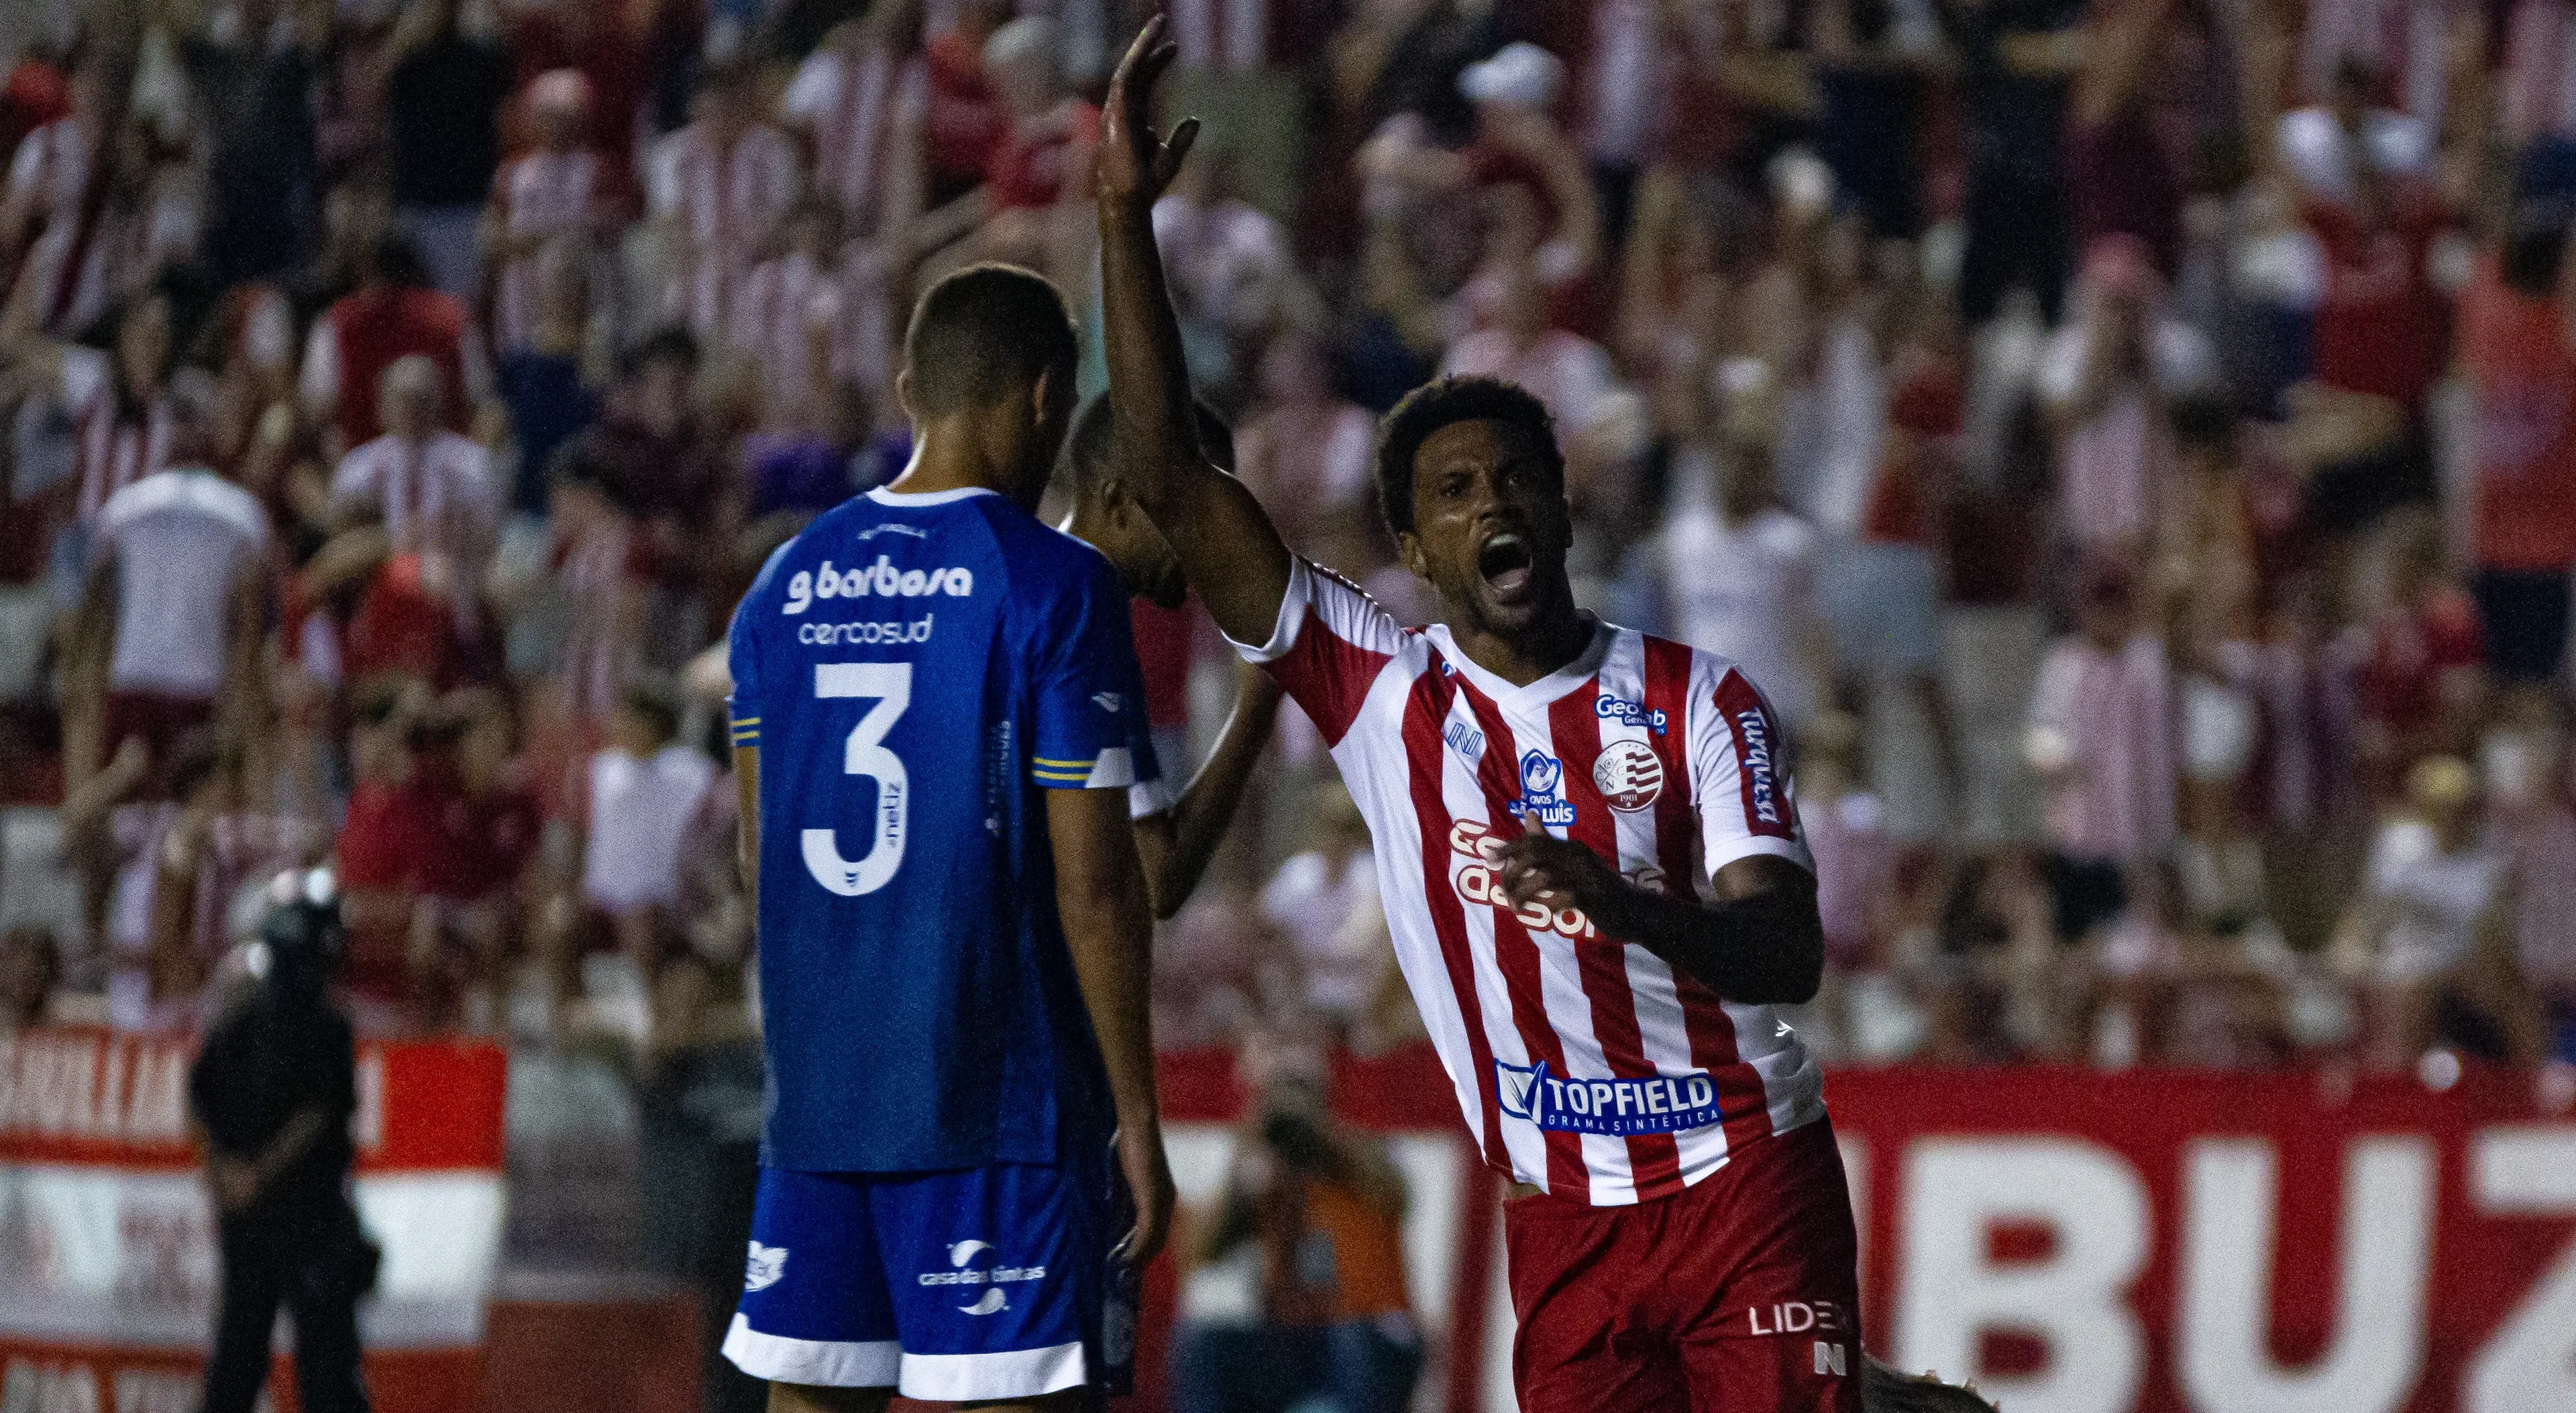
<svg viewBox="0 0 2576 1413"><path fill-rule="evenodd" d="M1834 1073L1868 1343L2009 1413L2576 1413L2576 1080L2429 1078ZM1430 1052L1334 1083L1363 1124L1466 1145ZM1164 1093L1242 1106L1221 1055ZM1417 1196L1445 1403L1510 1408L1494 1186Z"/></svg>

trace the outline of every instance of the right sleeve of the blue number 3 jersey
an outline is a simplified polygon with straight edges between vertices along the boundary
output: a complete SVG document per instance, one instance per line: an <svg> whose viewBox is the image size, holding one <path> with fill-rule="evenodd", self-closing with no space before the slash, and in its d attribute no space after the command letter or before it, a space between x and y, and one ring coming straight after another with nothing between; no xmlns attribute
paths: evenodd
<svg viewBox="0 0 2576 1413"><path fill-rule="evenodd" d="M1128 627L1126 590L1108 560L1092 557L1072 590L1041 619L1028 774L1043 789L1128 789L1157 779L1144 719L1144 673Z"/></svg>

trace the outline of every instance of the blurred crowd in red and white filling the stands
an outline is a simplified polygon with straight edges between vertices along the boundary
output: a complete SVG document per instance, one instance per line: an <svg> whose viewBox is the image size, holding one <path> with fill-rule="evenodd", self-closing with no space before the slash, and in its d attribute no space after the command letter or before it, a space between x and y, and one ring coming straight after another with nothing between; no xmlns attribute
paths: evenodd
<svg viewBox="0 0 2576 1413"><path fill-rule="evenodd" d="M1054 276L1097 392L1144 10L18 15L8 1024L198 1024L332 859L363 1029L752 1034L726 614L902 469L943 271ZM1373 415L1538 392L1584 603L1793 732L1829 1060L2576 1057L2576 8L1172 15L1157 227L1242 477L1419 621ZM1185 776L1236 668L1195 609L1136 639ZM1293 706L1157 988L1172 1047L1414 1029Z"/></svg>

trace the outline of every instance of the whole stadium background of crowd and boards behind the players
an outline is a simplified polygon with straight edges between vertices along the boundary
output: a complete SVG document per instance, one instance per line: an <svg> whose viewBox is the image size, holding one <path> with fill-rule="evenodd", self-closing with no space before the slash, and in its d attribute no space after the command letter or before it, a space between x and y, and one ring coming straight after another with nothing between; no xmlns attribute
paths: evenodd
<svg viewBox="0 0 2576 1413"><path fill-rule="evenodd" d="M2576 8L1172 13L1157 229L1291 539L1419 619L1370 415L1520 379L1584 603L1788 719L1880 1354L2014 1413L2576 1408ZM379 1400L757 1398L703 1359L760 1091L708 650L902 464L927 278L1033 263L1097 343L1141 15L0 5L5 1413L193 1405L170 1067L325 859ZM1139 652L1195 761L1224 645ZM1360 1323L1507 1405L1373 887L1291 709L1157 939L1146 1405Z"/></svg>

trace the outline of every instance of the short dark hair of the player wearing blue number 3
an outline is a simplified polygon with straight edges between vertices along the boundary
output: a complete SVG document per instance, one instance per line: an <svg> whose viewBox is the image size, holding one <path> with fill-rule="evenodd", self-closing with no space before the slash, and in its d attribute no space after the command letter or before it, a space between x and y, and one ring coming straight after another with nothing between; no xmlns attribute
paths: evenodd
<svg viewBox="0 0 2576 1413"><path fill-rule="evenodd" d="M912 410L925 418L989 407L1041 374L1072 376L1074 320L1043 276L1020 266L969 266L912 307L904 371Z"/></svg>

